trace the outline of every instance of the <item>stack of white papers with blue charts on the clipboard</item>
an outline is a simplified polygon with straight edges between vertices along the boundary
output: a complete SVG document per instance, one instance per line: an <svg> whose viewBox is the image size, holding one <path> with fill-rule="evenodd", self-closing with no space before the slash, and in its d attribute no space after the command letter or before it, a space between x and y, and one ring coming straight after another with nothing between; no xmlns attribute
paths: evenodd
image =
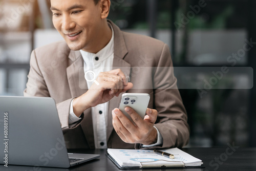
<svg viewBox="0 0 256 171"><path fill-rule="evenodd" d="M144 167L144 166L201 166L202 160L197 159L179 148L161 150L175 156L170 159L153 152L142 149L112 149L108 148L108 154L119 164L120 167Z"/></svg>

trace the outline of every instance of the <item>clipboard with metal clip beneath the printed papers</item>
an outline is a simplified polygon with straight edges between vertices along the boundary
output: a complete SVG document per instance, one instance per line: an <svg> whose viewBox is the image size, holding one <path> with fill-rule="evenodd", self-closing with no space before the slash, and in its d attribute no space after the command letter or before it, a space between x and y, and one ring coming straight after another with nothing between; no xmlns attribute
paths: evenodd
<svg viewBox="0 0 256 171"><path fill-rule="evenodd" d="M140 162L140 166L120 166L115 159L109 154L106 153L106 156L119 168L119 169L142 169L142 168L204 168L204 165L201 166L184 166L183 162L178 161L166 161L158 160L153 162ZM159 162L160 161L160 162ZM161 164L161 161L170 162L170 164Z"/></svg>

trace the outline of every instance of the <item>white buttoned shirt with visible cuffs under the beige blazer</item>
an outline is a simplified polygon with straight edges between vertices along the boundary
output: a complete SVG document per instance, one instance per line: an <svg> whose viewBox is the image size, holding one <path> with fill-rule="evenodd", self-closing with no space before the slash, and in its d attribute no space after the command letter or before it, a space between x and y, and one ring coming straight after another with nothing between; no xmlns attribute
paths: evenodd
<svg viewBox="0 0 256 171"><path fill-rule="evenodd" d="M83 69L85 79L87 80L88 89L94 83L94 79L98 77L100 72L111 71L114 59L114 30L112 29L112 38L108 45L101 49L98 53L89 53L83 50L80 50L80 53L83 58ZM89 71L89 72L88 72ZM95 75L92 75L92 72ZM98 104L92 108L92 119L93 119L93 130L94 130L94 144L95 148L107 148L106 142L106 127L108 126L107 118L109 111L109 102ZM79 121L81 118L78 118L73 111L73 100L70 104L70 115L69 115L69 124ZM143 147L150 147L162 144L162 136L157 130L158 142L152 145L143 145Z"/></svg>

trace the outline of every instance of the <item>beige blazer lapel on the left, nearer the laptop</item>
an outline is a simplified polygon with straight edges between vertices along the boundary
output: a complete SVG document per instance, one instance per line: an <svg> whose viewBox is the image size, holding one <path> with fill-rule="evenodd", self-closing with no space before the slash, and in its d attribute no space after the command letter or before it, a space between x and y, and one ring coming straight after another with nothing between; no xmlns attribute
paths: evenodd
<svg viewBox="0 0 256 171"><path fill-rule="evenodd" d="M72 51L69 54L70 66L67 68L67 77L72 98L79 97L88 91L87 82L84 78L83 59L79 51ZM78 83L78 84L77 84ZM84 119L81 122L83 133L90 148L94 146L93 121L91 108L84 111Z"/></svg>

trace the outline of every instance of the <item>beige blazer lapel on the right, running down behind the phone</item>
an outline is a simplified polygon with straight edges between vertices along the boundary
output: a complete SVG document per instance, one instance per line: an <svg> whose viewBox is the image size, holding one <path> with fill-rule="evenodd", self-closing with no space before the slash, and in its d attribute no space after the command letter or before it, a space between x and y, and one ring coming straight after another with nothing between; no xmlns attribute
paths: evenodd
<svg viewBox="0 0 256 171"><path fill-rule="evenodd" d="M108 22L112 25L114 29L114 59L113 59L113 70L114 69L121 69L122 72L125 74L126 78L130 77L131 72L131 65L127 63L123 58L128 53L128 50L125 45L125 41L123 38L123 34L121 30L113 24L110 20ZM124 93L124 92L123 92ZM110 135L113 131L112 125L112 110L115 108L119 108L119 103L121 101L122 94L121 93L118 97L114 97L109 102L109 115L108 115L108 128L107 128L107 135L106 139L109 140Z"/></svg>

